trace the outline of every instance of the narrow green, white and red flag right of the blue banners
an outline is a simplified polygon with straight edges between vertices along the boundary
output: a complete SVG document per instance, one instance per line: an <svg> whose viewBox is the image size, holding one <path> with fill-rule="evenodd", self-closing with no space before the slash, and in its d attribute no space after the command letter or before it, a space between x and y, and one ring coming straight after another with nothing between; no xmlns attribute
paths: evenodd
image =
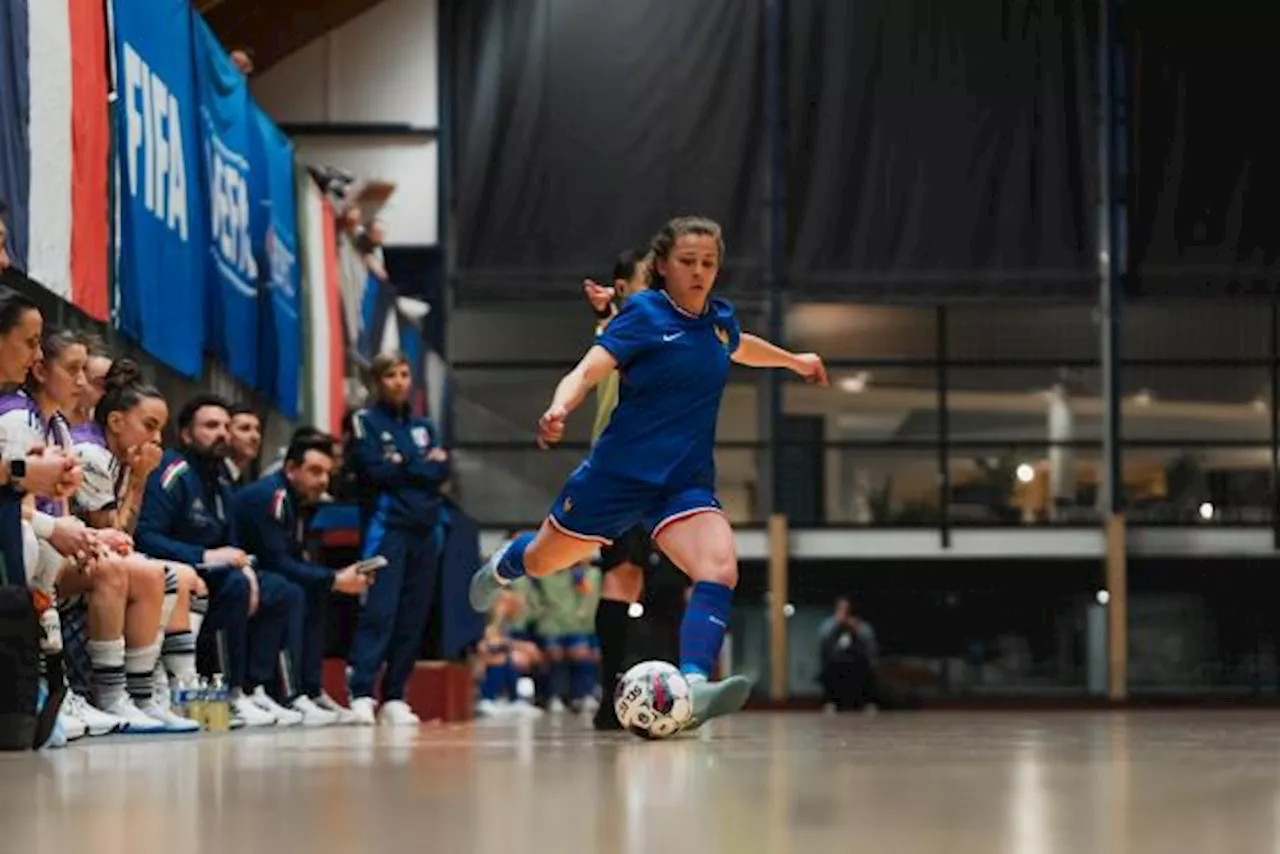
<svg viewBox="0 0 1280 854"><path fill-rule="evenodd" d="M298 248L305 316L305 416L321 430L342 433L344 346L333 205L306 169L297 166Z"/></svg>

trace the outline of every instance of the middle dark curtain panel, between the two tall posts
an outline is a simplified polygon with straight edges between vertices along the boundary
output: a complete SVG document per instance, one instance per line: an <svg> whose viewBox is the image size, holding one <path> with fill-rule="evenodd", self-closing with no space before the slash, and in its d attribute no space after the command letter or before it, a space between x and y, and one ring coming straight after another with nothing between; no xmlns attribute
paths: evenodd
<svg viewBox="0 0 1280 854"><path fill-rule="evenodd" d="M791 286L1096 289L1094 0L790 0Z"/></svg>

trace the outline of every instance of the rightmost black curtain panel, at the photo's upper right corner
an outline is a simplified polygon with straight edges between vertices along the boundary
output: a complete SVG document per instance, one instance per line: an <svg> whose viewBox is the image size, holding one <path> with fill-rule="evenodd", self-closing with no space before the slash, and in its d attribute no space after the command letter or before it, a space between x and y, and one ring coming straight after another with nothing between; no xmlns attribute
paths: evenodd
<svg viewBox="0 0 1280 854"><path fill-rule="evenodd" d="M1280 122L1268 99L1280 15L1129 0L1133 292L1274 293Z"/></svg>

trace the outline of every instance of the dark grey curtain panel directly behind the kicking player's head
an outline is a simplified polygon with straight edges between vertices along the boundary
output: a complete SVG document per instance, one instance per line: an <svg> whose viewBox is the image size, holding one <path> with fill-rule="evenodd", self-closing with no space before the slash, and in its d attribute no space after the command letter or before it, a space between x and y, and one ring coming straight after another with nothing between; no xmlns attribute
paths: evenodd
<svg viewBox="0 0 1280 854"><path fill-rule="evenodd" d="M758 0L467 0L453 51L458 300L580 298L671 216L759 277Z"/></svg>

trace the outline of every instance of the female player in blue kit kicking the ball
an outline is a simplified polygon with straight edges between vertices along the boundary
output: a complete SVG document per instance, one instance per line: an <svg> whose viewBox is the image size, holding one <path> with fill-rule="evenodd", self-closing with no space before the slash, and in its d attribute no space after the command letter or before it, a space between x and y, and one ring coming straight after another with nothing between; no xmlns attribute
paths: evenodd
<svg viewBox="0 0 1280 854"><path fill-rule="evenodd" d="M588 393L618 370L618 406L588 458L570 475L536 534L494 552L471 577L471 606L488 612L503 586L588 560L636 524L694 581L680 626L680 670L696 727L742 708L742 676L710 682L737 585L733 530L716 498L716 419L730 362L785 367L827 384L815 353L791 353L744 333L733 306L710 296L724 257L718 224L673 219L653 239L650 289L632 296L582 361L556 387L538 444L564 435Z"/></svg>

